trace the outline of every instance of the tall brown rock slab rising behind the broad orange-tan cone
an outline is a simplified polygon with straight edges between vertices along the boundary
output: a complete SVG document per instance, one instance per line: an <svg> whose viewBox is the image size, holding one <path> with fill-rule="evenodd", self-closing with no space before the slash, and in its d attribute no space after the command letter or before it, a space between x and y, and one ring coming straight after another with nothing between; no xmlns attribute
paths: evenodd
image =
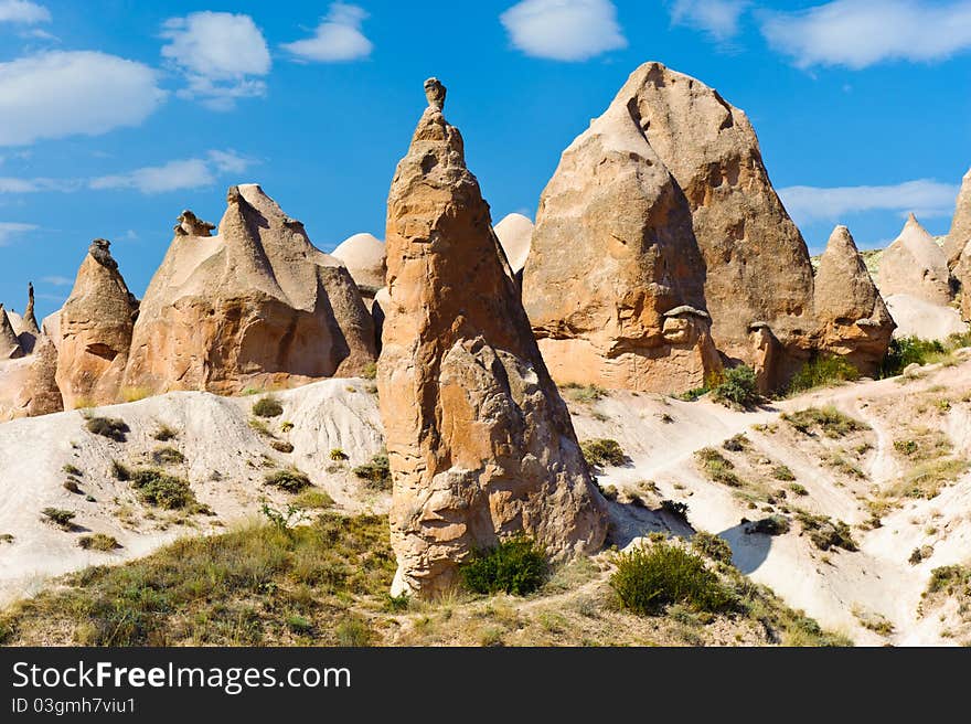
<svg viewBox="0 0 971 724"><path fill-rule="evenodd" d="M767 324L780 349L771 384L805 355L812 265L805 242L769 180L745 111L660 63L634 71L615 104L636 113L692 212L707 266L705 301L723 353L753 363L753 329Z"/></svg>

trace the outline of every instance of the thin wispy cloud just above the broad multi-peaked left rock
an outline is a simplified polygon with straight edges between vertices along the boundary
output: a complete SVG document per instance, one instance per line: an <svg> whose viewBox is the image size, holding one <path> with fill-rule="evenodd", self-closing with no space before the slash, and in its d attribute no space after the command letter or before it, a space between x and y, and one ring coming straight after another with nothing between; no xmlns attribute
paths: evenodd
<svg viewBox="0 0 971 724"><path fill-rule="evenodd" d="M98 177L88 185L95 190L135 189L145 194L169 193L211 187L220 174L242 173L249 166L250 161L232 151L210 151L205 158L174 160L127 173Z"/></svg>

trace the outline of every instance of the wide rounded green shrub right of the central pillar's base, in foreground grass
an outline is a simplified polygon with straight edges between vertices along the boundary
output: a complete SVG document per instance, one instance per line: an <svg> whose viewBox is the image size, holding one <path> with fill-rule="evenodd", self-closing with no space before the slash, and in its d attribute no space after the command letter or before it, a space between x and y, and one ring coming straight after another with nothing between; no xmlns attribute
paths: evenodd
<svg viewBox="0 0 971 724"><path fill-rule="evenodd" d="M637 547L617 556L616 564L610 586L621 606L634 614L660 614L672 604L711 614L734 607L734 597L718 576L701 557L676 545Z"/></svg>

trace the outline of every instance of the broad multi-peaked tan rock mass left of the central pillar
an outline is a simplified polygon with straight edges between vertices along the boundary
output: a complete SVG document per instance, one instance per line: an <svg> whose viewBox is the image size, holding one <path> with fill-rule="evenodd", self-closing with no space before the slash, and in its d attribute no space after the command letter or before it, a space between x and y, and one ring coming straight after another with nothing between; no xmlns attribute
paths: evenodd
<svg viewBox="0 0 971 724"><path fill-rule="evenodd" d="M226 202L215 236L180 217L141 304L125 386L236 394L373 362L371 316L340 262L258 185L231 188Z"/></svg>

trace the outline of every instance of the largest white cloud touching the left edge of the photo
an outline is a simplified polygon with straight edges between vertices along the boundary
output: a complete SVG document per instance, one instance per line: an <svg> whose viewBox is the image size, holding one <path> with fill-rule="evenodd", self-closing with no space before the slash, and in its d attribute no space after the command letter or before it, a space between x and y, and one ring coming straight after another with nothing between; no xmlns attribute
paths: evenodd
<svg viewBox="0 0 971 724"><path fill-rule="evenodd" d="M164 98L154 71L105 53L51 52L0 63L0 146L138 126Z"/></svg>

